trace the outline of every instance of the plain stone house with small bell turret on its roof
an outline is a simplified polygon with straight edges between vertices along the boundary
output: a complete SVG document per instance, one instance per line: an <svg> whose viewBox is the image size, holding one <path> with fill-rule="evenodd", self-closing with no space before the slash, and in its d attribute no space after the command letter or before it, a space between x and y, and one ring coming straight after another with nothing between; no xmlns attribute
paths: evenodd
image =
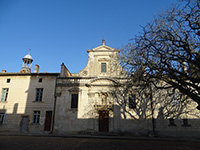
<svg viewBox="0 0 200 150"><path fill-rule="evenodd" d="M32 57L23 58L18 73L0 73L0 132L50 132L58 73L31 73Z"/></svg>

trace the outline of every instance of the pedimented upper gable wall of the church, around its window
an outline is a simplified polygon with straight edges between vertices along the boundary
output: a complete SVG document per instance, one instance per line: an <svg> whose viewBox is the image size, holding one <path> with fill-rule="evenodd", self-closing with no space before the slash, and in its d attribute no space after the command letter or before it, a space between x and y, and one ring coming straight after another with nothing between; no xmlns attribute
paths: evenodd
<svg viewBox="0 0 200 150"><path fill-rule="evenodd" d="M118 61L119 50L106 45L87 50L88 64L79 72L84 77L120 77L124 71ZM106 63L106 73L101 72L101 63Z"/></svg>

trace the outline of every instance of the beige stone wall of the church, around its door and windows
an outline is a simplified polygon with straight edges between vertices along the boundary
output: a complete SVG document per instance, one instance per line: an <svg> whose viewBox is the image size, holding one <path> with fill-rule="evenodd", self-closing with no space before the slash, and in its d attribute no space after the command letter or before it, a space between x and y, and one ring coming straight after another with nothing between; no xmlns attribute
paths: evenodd
<svg viewBox="0 0 200 150"><path fill-rule="evenodd" d="M58 78L56 95L56 116L54 133L95 133L99 132L99 110L109 111L109 132L117 134L129 134L135 136L150 135L153 132L152 115L150 105L144 110L145 115L128 108L128 95L124 99L123 93L119 100L126 100L126 105L120 105L113 97L112 91L116 85L123 83L125 71L117 60L118 50L102 45L87 50L89 53L87 66L79 72L79 76ZM101 63L107 64L107 72L101 72ZM73 74L72 74L73 75ZM78 108L71 108L71 94L76 91L79 94ZM159 93L155 91L154 96ZM106 104L103 102L106 95ZM121 96L121 98L120 98ZM156 101L154 100L156 103ZM143 102L141 102L143 107ZM156 104L157 105L157 104ZM195 104L190 104L193 113L199 113ZM169 126L169 118L160 119L158 116L160 106L156 106L155 132L159 136L184 135L195 137L200 132L199 116L188 116L189 126L183 125L183 118L175 120L177 126ZM141 116L142 117L141 117Z"/></svg>

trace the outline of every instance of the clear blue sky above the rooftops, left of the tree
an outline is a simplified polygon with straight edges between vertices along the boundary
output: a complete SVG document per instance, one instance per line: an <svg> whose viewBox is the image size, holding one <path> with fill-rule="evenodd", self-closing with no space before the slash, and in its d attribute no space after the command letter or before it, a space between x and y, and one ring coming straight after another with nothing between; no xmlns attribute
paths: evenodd
<svg viewBox="0 0 200 150"><path fill-rule="evenodd" d="M0 0L0 70L19 72L31 49L40 72L59 72L62 62L72 73L88 61L87 49L102 39L122 48L140 26L176 0Z"/></svg>

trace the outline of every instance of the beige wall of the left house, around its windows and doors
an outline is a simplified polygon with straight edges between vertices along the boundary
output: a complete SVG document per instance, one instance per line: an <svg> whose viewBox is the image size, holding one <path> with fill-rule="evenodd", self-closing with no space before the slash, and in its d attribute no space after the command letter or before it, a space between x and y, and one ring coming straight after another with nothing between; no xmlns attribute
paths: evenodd
<svg viewBox="0 0 200 150"><path fill-rule="evenodd" d="M6 83L7 79L10 83ZM42 82L38 82L42 78ZM9 88L6 102L0 102L0 110L8 113L7 123L0 125L0 131L20 132L22 116L28 116L27 132L43 132L45 113L53 111L56 75L3 74L0 76L2 88ZM43 88L42 102L35 102L36 88ZM40 111L40 123L33 124L33 111Z"/></svg>

